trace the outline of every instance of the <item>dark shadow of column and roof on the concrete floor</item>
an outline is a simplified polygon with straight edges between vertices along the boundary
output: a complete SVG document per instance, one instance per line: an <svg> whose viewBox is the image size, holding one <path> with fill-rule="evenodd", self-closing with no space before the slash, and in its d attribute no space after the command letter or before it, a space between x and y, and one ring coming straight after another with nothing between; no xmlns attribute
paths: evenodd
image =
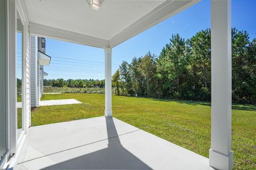
<svg viewBox="0 0 256 170"><path fill-rule="evenodd" d="M44 169L151 169L123 148L113 118L106 117L108 148L79 156ZM89 146L90 147L90 146Z"/></svg>

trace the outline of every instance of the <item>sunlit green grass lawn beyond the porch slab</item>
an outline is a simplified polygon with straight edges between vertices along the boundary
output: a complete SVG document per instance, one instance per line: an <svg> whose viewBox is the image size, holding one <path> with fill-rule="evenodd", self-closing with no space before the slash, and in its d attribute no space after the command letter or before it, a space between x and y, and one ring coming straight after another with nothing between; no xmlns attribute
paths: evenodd
<svg viewBox="0 0 256 170"><path fill-rule="evenodd" d="M103 94L43 95L41 100L77 99L83 104L42 106L31 115L33 126L104 115ZM113 116L165 140L209 157L211 106L206 102L113 95ZM256 169L256 106L233 105L234 169Z"/></svg>

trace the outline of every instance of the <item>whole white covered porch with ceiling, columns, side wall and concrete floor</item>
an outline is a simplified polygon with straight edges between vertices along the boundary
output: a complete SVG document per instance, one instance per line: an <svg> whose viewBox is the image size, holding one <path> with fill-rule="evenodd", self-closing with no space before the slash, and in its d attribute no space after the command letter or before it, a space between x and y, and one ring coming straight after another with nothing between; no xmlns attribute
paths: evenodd
<svg viewBox="0 0 256 170"><path fill-rule="evenodd" d="M112 118L114 47L198 1L1 1L0 168L232 169L231 2L211 2L211 149L205 158ZM38 9L41 8L41 10ZM22 133L17 130L17 13L22 22ZM3 36L2 36L3 35ZM105 117L30 127L30 36L102 48ZM3 37L3 38L2 38ZM115 114L115 113L114 113ZM0 139L1 139L0 138ZM18 165L18 166L17 166Z"/></svg>

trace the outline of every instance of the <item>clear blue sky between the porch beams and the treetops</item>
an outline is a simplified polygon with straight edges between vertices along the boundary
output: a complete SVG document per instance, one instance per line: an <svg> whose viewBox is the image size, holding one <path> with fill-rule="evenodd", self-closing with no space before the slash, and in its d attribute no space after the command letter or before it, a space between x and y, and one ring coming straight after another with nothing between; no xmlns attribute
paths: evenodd
<svg viewBox="0 0 256 170"><path fill-rule="evenodd" d="M256 38L256 1L231 2L232 27L246 30L251 39ZM149 50L159 55L173 33L187 39L202 29L210 28L210 14L210 0L203 0L113 48L112 73L122 61L130 63L134 56L143 56ZM103 49L47 38L46 54L52 56L50 66L44 67L44 71L49 73L46 79L104 79Z"/></svg>

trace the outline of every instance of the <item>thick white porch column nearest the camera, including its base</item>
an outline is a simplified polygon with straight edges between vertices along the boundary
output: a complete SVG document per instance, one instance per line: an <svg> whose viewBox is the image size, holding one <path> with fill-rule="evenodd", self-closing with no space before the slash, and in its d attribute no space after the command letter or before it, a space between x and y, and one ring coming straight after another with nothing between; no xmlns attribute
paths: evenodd
<svg viewBox="0 0 256 170"><path fill-rule="evenodd" d="M232 169L231 151L231 1L211 1L210 166Z"/></svg>

